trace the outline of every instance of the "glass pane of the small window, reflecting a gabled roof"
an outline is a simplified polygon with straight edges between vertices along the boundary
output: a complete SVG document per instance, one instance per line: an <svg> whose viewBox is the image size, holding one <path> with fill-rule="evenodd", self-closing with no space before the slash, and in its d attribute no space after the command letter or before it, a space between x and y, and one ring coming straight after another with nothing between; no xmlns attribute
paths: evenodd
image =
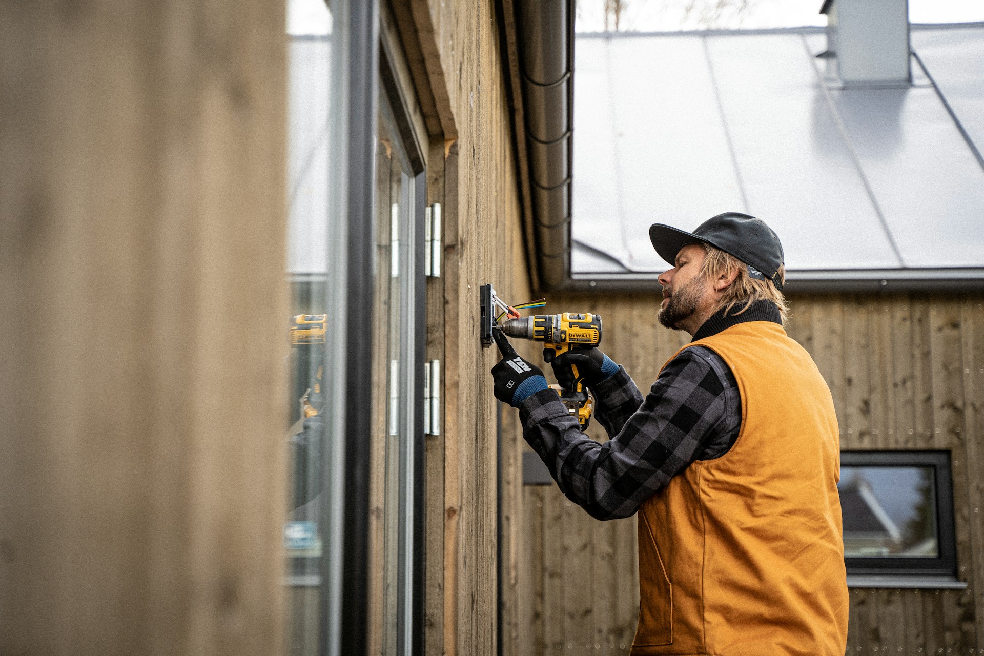
<svg viewBox="0 0 984 656"><path fill-rule="evenodd" d="M932 467L840 468L847 558L938 558Z"/></svg>

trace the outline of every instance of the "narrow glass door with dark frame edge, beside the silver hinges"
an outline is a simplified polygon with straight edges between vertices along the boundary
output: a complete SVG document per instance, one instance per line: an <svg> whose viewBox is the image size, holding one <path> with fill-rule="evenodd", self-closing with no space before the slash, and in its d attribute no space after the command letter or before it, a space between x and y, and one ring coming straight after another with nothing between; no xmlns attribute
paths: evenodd
<svg viewBox="0 0 984 656"><path fill-rule="evenodd" d="M419 653L422 645L423 171L414 172L395 112L380 98L376 148L377 279L373 342L378 637L372 653ZM418 617L419 616L419 617ZM377 644L373 644L373 641Z"/></svg>

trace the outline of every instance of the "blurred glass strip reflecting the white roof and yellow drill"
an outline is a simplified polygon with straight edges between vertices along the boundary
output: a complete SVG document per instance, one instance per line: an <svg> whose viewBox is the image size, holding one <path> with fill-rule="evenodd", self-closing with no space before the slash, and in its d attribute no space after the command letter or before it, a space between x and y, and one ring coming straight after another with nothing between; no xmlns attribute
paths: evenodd
<svg viewBox="0 0 984 656"><path fill-rule="evenodd" d="M329 212L328 126L332 17L324 0L287 3L287 270L292 303L284 318L290 344L287 514L287 653L319 653L324 546L322 467L326 455Z"/></svg>

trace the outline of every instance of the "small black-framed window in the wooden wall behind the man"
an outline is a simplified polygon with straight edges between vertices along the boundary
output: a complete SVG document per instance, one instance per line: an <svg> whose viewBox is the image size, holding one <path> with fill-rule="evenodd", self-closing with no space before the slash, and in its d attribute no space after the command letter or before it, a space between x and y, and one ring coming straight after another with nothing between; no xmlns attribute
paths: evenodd
<svg viewBox="0 0 984 656"><path fill-rule="evenodd" d="M842 451L837 491L848 584L955 581L949 451Z"/></svg>

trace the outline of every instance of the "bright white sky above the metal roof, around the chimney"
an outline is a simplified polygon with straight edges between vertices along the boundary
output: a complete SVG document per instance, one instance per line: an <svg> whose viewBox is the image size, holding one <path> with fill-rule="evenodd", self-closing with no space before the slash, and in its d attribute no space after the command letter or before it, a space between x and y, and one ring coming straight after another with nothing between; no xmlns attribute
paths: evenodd
<svg viewBox="0 0 984 656"><path fill-rule="evenodd" d="M822 0L622 0L620 31L826 26ZM605 0L577 0L576 30L605 31ZM909 0L912 23L984 21L982 0ZM609 30L614 30L610 25Z"/></svg>

